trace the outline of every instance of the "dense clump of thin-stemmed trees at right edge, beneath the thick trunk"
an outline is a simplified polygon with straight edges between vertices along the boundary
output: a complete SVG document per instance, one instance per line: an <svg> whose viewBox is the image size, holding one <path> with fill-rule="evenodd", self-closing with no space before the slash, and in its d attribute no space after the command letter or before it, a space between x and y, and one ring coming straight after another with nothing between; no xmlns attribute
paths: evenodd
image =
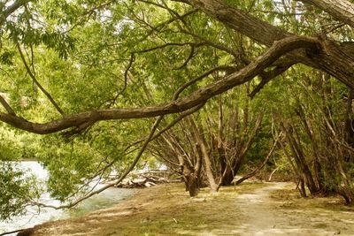
<svg viewBox="0 0 354 236"><path fill-rule="evenodd" d="M282 149L293 163L300 192L340 194L352 202L350 90L323 72L293 73L297 79L284 107L274 110L285 134ZM299 78L300 77L300 78ZM294 79L290 79L294 80Z"/></svg>

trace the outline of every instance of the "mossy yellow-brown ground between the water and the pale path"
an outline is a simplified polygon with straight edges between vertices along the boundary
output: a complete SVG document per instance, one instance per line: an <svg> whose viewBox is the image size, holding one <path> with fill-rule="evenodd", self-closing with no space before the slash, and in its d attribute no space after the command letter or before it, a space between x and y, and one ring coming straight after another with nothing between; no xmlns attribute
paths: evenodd
<svg viewBox="0 0 354 236"><path fill-rule="evenodd" d="M232 225L242 220L235 198L264 185L243 183L236 187L221 187L217 194L210 194L208 188L203 188L194 198L189 197L182 184L145 188L112 209L47 224L35 235L49 235L50 228L56 228L50 235L71 234L79 229L87 232L85 235L97 235L98 232L99 235L196 235L214 229L228 232ZM129 214L123 214L127 211ZM97 215L99 212L102 213Z"/></svg>

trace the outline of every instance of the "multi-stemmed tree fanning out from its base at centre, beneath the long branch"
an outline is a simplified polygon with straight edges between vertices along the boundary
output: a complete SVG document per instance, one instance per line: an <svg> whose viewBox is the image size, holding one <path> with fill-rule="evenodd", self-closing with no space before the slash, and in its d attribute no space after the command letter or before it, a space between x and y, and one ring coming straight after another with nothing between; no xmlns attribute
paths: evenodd
<svg viewBox="0 0 354 236"><path fill-rule="evenodd" d="M181 175L190 195L206 184L212 192L230 185L245 162L264 113L250 104L248 88L212 99L150 145L153 156Z"/></svg>

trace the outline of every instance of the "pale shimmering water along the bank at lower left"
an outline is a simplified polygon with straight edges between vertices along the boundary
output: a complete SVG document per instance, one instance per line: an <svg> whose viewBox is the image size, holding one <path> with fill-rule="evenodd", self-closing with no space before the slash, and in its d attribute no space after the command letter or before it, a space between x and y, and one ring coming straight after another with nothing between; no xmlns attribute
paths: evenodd
<svg viewBox="0 0 354 236"><path fill-rule="evenodd" d="M29 169L35 174L38 179L48 178L48 173L42 168L42 165L31 161L31 162L21 162L20 166L24 169ZM99 186L98 186L99 187ZM13 217L12 221L4 222L0 221L0 233L1 232L10 232L18 229L29 228L34 225L42 224L47 221L67 218L67 217L80 217L90 211L96 209L108 208L117 202L123 201L131 194L134 194L134 189L126 188L116 188L111 187L106 189L100 194L96 194L90 197L87 200L81 202L74 209L41 209L38 212L38 208L31 207L28 209L29 213L21 217ZM50 198L49 194L43 194L41 197L41 202L45 202L50 205L59 205L58 201L55 201ZM9 234L10 235L10 234ZM12 234L16 235L16 234Z"/></svg>

